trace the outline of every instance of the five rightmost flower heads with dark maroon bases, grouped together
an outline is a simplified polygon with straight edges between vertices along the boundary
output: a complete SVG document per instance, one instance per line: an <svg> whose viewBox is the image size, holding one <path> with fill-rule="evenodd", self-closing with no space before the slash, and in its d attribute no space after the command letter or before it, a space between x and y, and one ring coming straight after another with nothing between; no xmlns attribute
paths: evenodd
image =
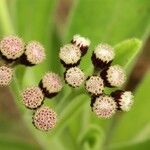
<svg viewBox="0 0 150 150"><path fill-rule="evenodd" d="M129 111L133 104L133 95L130 91L116 90L110 95L105 94L105 87L120 88L126 81L124 69L120 65L111 65L114 58L115 52L110 45L99 44L91 58L98 73L85 83L87 91L92 96L92 111L100 118L110 118L117 110ZM94 90L91 92L91 89Z"/></svg>

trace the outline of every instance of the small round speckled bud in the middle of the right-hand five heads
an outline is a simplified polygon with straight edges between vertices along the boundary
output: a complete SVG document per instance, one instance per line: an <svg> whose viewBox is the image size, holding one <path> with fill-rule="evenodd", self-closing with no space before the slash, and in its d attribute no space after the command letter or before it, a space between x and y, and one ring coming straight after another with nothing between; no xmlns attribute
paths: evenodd
<svg viewBox="0 0 150 150"><path fill-rule="evenodd" d="M90 94L98 96L104 89L103 80L99 76L91 76L86 80L85 88Z"/></svg>

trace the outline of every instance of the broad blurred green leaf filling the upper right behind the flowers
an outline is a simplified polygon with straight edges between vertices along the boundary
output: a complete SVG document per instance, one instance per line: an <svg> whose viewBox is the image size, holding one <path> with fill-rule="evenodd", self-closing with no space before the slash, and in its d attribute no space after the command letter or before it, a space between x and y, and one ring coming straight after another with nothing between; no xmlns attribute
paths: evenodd
<svg viewBox="0 0 150 150"><path fill-rule="evenodd" d="M92 71L91 53L99 42L112 45L128 38L142 39L150 30L150 1L148 0L79 0L68 17L64 41L74 34L89 37L91 48L81 66Z"/></svg>

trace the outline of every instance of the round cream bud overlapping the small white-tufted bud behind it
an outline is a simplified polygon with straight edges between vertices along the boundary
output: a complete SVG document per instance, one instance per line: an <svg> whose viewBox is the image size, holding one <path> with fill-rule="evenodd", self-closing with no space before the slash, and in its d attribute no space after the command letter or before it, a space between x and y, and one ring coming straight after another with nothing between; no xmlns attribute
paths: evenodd
<svg viewBox="0 0 150 150"><path fill-rule="evenodd" d="M59 58L64 67L74 67L80 63L81 51L77 46L67 44L60 48Z"/></svg>

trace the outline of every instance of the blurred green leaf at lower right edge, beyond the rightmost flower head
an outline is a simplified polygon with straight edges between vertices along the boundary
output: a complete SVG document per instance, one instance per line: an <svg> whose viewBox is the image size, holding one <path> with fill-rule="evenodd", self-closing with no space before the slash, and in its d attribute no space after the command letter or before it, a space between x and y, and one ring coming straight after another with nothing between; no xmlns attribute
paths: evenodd
<svg viewBox="0 0 150 150"><path fill-rule="evenodd" d="M124 113L119 120L115 130L113 144L117 143L135 143L150 138L150 72L147 73L142 83L135 92L134 105L130 112Z"/></svg>

